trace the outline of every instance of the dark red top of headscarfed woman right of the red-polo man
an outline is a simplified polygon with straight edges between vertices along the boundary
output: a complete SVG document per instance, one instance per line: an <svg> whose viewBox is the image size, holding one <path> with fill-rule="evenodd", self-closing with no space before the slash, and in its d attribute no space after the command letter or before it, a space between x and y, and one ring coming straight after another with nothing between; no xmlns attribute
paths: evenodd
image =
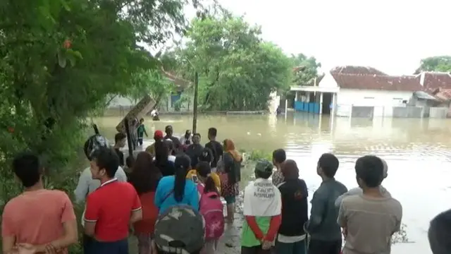
<svg viewBox="0 0 451 254"><path fill-rule="evenodd" d="M158 217L158 207L155 205L155 192L142 193L140 195L142 205L142 220L136 222L133 226L135 233L150 234L154 233L156 218Z"/></svg>

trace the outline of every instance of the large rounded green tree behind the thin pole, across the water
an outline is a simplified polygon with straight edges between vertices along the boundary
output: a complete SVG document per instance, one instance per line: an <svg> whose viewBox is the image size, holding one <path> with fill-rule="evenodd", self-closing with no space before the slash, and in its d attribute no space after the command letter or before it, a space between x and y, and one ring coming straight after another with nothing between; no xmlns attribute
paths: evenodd
<svg viewBox="0 0 451 254"><path fill-rule="evenodd" d="M271 92L288 87L290 59L260 35L259 27L229 13L192 21L185 47L171 54L185 78L199 73L203 110L267 109Z"/></svg>

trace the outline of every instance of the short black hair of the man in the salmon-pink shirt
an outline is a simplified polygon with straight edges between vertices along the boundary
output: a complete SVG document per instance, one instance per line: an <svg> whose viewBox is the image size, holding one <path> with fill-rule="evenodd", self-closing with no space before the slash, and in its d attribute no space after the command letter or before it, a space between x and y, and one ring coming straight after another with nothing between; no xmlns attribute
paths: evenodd
<svg viewBox="0 0 451 254"><path fill-rule="evenodd" d="M39 157L32 152L16 155L13 159L13 171L25 188L38 183L43 172Z"/></svg>

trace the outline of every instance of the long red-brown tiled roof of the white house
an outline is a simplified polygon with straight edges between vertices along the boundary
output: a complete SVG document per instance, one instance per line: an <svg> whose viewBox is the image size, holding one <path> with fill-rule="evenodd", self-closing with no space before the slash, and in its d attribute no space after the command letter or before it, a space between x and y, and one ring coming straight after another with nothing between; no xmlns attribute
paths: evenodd
<svg viewBox="0 0 451 254"><path fill-rule="evenodd" d="M362 75L330 73L340 88L390 90L390 91L418 91L422 86L416 76Z"/></svg>

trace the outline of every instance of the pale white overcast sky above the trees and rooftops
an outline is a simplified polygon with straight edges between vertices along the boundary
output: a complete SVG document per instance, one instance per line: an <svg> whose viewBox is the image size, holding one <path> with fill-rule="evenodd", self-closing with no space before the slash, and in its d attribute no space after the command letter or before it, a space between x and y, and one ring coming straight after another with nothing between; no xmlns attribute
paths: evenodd
<svg viewBox="0 0 451 254"><path fill-rule="evenodd" d="M422 58L451 55L451 0L218 1L261 25L264 40L287 54L315 56L323 71L359 65L411 74Z"/></svg>

